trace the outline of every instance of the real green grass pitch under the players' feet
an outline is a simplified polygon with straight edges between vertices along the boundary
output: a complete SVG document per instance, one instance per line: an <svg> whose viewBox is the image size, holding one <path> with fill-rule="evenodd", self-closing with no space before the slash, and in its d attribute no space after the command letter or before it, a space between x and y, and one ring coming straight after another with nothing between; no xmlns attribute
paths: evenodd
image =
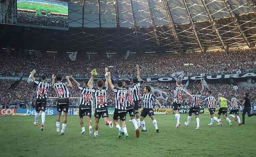
<svg viewBox="0 0 256 157"><path fill-rule="evenodd" d="M113 115L110 115L111 117ZM160 133L155 132L150 118L146 118L147 132L141 132L136 139L134 127L127 117L129 139L117 138L117 130L103 125L99 126L99 138L86 133L80 135L78 116L69 116L64 136L56 133L55 116L46 116L45 130L33 126L32 116L0 117L1 157L114 157L114 156L256 156L255 129L256 117L248 118L246 124L223 127L214 124L209 127L208 114L200 115L200 130L196 130L196 120L191 118L190 126L184 121L187 114L181 114L180 128L175 129L173 115L156 115ZM241 119L242 120L242 119ZM39 122L41 117L39 117ZM94 118L93 118L94 123Z"/></svg>

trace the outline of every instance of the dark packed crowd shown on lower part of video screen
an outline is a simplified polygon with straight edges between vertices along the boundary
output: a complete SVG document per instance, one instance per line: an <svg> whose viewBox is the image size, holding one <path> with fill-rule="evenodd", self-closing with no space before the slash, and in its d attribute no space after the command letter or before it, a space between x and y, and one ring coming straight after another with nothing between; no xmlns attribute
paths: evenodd
<svg viewBox="0 0 256 157"><path fill-rule="evenodd" d="M17 21L25 24L43 25L51 27L68 27L66 16L35 15L33 13L17 12Z"/></svg>

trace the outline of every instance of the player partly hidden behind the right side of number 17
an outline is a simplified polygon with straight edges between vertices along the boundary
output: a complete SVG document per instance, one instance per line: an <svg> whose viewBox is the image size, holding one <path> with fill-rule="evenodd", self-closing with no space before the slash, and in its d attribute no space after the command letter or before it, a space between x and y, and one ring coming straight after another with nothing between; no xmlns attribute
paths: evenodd
<svg viewBox="0 0 256 157"><path fill-rule="evenodd" d="M125 81L125 88L127 90L129 90L130 93L131 93L129 95L129 97L128 97L128 105L126 107L126 115L129 112L129 115L130 115L130 118L131 118L131 122L134 125L135 130L136 130L136 137L139 138L140 137L140 131L139 131L138 123L137 123L137 121L135 119L134 102L133 102L133 90L130 87L130 81L127 81L127 80Z"/></svg>

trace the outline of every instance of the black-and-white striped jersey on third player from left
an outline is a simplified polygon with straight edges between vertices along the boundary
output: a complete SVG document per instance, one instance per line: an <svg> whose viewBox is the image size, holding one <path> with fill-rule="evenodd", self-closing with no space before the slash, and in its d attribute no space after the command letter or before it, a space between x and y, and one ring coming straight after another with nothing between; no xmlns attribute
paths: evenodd
<svg viewBox="0 0 256 157"><path fill-rule="evenodd" d="M91 108L91 105L93 104L93 93L95 93L95 89L85 87L82 85L80 85L78 88L81 90L81 107L84 109Z"/></svg>

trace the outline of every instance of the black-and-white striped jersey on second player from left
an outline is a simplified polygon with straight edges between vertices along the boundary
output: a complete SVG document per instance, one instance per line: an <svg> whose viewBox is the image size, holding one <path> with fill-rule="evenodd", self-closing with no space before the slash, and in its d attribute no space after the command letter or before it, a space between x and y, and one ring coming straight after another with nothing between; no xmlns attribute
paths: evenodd
<svg viewBox="0 0 256 157"><path fill-rule="evenodd" d="M67 87L67 82L57 81L53 84L53 87L58 95L58 98L69 98L70 92Z"/></svg>

